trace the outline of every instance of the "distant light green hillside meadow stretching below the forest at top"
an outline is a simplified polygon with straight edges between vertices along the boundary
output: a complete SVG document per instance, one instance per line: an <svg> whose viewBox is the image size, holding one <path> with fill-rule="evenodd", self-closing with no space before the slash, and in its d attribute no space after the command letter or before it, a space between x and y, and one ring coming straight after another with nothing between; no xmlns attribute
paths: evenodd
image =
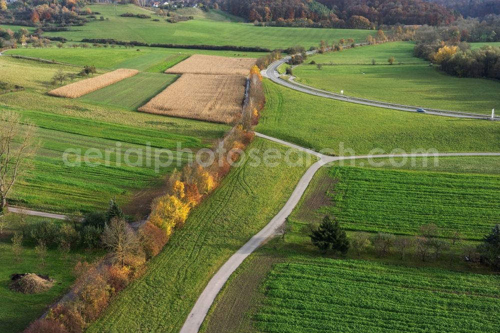
<svg viewBox="0 0 500 333"><path fill-rule="evenodd" d="M148 43L208 44L261 46L270 49L292 45L309 47L319 44L321 39L330 42L340 38L364 41L371 30L260 27L253 24L230 22L225 13L212 12L205 18L185 22L169 23L166 17L157 16L150 10L133 5L92 4L88 6L108 20L92 20L71 31L50 32L46 35L63 36L72 41L82 38L114 38L137 40ZM145 13L152 18L121 17L124 12ZM160 20L155 22L153 18ZM15 30L18 26L10 26Z"/></svg>

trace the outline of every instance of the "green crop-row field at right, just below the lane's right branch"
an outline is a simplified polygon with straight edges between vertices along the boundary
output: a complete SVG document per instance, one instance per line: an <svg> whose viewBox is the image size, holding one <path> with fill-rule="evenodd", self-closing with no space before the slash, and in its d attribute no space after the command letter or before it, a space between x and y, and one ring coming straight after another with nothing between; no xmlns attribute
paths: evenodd
<svg viewBox="0 0 500 333"><path fill-rule="evenodd" d="M329 175L334 206L323 209L347 229L415 234L434 223L480 239L498 222L498 176L338 166Z"/></svg>

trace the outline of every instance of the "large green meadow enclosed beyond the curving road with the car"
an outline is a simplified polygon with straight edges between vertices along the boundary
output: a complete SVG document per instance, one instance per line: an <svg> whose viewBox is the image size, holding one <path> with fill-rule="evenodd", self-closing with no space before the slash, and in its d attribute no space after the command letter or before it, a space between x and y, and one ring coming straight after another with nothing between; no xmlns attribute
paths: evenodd
<svg viewBox="0 0 500 333"><path fill-rule="evenodd" d="M300 65L293 75L298 82L349 96L482 114L500 108L500 82L455 77L426 64L323 65L321 70Z"/></svg>

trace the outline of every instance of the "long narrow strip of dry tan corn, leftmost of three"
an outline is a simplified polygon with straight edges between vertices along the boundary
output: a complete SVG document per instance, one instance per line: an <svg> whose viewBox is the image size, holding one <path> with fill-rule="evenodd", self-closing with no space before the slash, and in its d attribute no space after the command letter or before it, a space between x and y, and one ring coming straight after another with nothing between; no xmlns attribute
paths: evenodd
<svg viewBox="0 0 500 333"><path fill-rule="evenodd" d="M50 90L48 94L57 97L77 98L89 92L121 81L124 78L133 76L138 72L139 71L136 69L120 68L109 73L61 86L57 89Z"/></svg>

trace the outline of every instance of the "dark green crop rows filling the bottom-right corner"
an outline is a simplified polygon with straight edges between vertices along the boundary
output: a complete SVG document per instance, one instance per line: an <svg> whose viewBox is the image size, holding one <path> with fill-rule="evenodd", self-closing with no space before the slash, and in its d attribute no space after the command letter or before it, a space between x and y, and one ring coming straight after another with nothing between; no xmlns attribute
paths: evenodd
<svg viewBox="0 0 500 333"><path fill-rule="evenodd" d="M494 275L314 259L276 264L263 287L262 332L500 330Z"/></svg>

